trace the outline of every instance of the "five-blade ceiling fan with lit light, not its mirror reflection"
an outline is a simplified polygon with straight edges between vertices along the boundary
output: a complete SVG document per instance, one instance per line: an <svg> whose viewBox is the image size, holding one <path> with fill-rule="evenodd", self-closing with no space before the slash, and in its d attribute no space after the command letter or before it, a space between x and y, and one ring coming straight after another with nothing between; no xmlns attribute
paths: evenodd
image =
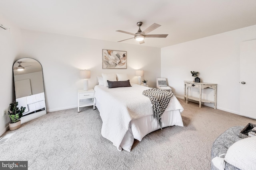
<svg viewBox="0 0 256 170"><path fill-rule="evenodd" d="M122 31L122 30L117 30L120 33L126 33L126 34L130 34L130 35L134 35L134 39L136 39L136 41L139 41L140 44L145 43L144 39L145 38L166 38L168 34L148 34L149 32L153 31L154 29L160 27L161 25L157 24L157 23L153 23L152 25L150 25L148 28L146 28L144 31L140 30L140 26L142 25L142 22L137 22L137 25L139 26L139 30L137 33L130 33L127 31ZM132 39L132 38L128 38L128 39ZM128 39L124 39L118 42L122 42L122 41L126 41Z"/></svg>

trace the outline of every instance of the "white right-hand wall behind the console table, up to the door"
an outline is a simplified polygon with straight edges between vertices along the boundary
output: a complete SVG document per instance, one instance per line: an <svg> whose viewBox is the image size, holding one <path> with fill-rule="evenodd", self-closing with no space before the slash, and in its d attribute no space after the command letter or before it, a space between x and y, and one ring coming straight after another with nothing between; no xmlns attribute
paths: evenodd
<svg viewBox="0 0 256 170"><path fill-rule="evenodd" d="M256 39L256 25L164 47L161 76L183 98L183 81L192 81L190 71L198 71L201 82L218 84L217 109L239 114L240 42L252 39Z"/></svg>

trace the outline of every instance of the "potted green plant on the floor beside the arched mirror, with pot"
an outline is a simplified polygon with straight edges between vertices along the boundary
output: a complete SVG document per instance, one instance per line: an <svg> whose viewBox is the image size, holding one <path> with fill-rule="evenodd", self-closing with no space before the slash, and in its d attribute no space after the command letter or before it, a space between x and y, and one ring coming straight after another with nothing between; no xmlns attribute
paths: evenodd
<svg viewBox="0 0 256 170"><path fill-rule="evenodd" d="M8 115L11 119L11 122L9 123L9 129L10 131L19 129L20 128L20 118L22 117L22 113L24 113L26 107L17 107L18 102L14 102L10 104L10 110L8 111Z"/></svg>

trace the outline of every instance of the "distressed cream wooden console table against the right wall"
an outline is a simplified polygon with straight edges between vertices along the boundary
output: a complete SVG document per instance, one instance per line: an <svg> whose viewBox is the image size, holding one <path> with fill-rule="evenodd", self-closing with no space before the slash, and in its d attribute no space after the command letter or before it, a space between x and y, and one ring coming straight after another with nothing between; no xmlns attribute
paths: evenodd
<svg viewBox="0 0 256 170"><path fill-rule="evenodd" d="M189 88L199 88L199 98L188 96ZM212 88L214 90L214 101L202 99L202 89ZM217 96L217 84L214 83L198 83L192 81L184 81L184 100L188 103L188 99L195 100L199 102L199 107L201 107L201 102L214 103L214 109L216 109L216 96Z"/></svg>

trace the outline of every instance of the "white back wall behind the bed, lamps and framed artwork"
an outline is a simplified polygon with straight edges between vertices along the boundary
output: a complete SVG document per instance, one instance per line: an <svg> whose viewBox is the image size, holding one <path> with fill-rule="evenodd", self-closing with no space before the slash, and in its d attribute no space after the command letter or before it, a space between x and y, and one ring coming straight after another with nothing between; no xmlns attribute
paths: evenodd
<svg viewBox="0 0 256 170"><path fill-rule="evenodd" d="M22 43L22 57L42 64L48 111L77 107L77 90L83 88L79 71L83 69L91 70L89 88L94 88L101 73L126 73L137 83L135 70L142 69L142 80L147 79L150 87L156 87L160 76L160 48L28 30L22 30ZM102 49L127 51L127 69L102 69Z"/></svg>

